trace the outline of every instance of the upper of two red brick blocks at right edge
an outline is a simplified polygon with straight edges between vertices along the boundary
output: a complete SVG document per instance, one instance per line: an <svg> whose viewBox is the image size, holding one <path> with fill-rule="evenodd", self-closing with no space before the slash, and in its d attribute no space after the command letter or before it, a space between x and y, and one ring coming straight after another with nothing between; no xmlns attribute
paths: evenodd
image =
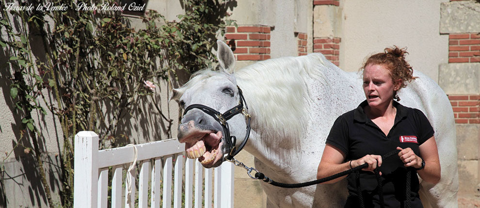
<svg viewBox="0 0 480 208"><path fill-rule="evenodd" d="M448 37L448 62L480 62L480 35L456 33Z"/></svg>

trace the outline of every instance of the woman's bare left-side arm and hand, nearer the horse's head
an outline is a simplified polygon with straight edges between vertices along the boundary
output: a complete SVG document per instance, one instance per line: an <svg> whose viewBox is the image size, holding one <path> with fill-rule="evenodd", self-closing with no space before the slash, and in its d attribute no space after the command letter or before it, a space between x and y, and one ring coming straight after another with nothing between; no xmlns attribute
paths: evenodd
<svg viewBox="0 0 480 208"><path fill-rule="evenodd" d="M382 156L380 155L365 155L364 157L343 163L345 160L345 153L343 153L340 149L336 148L335 146L327 144L325 149L323 149L323 155L321 156L320 164L317 170L317 179L325 178L327 176L331 176L346 170L351 169L352 167L356 167L358 165L362 165L364 163L368 163L368 167L362 169L365 171L372 171L377 168L378 166L382 165ZM382 173L380 173L382 174ZM324 183L335 183L347 176L343 176L340 178L336 178L330 181L326 181Z"/></svg>

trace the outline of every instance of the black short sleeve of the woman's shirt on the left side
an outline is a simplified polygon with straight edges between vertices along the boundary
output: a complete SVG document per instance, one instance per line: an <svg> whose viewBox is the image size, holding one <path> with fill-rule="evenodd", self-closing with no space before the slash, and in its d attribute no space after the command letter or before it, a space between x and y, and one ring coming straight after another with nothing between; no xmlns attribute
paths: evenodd
<svg viewBox="0 0 480 208"><path fill-rule="evenodd" d="M326 144L332 145L348 155L348 125L344 115L339 116L327 136Z"/></svg>

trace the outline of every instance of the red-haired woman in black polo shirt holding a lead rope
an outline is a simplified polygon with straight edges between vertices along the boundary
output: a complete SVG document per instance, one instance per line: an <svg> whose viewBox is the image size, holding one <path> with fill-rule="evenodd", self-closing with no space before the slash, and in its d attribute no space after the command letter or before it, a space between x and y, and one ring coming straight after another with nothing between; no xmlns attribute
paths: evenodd
<svg viewBox="0 0 480 208"><path fill-rule="evenodd" d="M385 48L383 53L370 56L363 67L363 89L366 101L356 109L338 117L327 137L318 167L317 178L324 178L368 163L355 175L347 177L349 197L346 208L358 207L357 185L362 189L365 207L380 207L374 169L382 176L385 207L405 206L407 168L411 177L411 207L422 208L416 173L424 181L440 180L440 162L433 128L418 109L398 102L398 91L415 79L412 67L405 61L405 49ZM382 161L382 155L395 149L398 156ZM342 177L342 178L345 178ZM342 178L328 181L334 183Z"/></svg>

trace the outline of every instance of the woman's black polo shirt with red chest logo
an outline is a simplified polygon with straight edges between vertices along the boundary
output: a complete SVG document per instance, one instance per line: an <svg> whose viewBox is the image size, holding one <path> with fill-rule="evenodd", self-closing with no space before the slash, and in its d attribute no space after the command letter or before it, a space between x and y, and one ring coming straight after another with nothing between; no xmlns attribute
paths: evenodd
<svg viewBox="0 0 480 208"><path fill-rule="evenodd" d="M333 145L345 153L345 162L362 158L368 154L384 155L397 147L411 148L419 155L419 146L433 136L433 128L427 117L418 109L405 107L393 102L397 109L392 129L385 135L382 130L365 114L367 101L356 109L338 117L330 130L326 143ZM419 155L421 156L421 155ZM406 174L398 156L383 161L382 171L383 194L385 208L403 208L405 203ZM359 182L365 207L380 207L377 192L377 179L369 171L360 171L360 180L355 181L355 174L347 177L350 196L345 207L358 207L356 185ZM419 181L416 171L411 176L412 208L423 208L418 194Z"/></svg>

